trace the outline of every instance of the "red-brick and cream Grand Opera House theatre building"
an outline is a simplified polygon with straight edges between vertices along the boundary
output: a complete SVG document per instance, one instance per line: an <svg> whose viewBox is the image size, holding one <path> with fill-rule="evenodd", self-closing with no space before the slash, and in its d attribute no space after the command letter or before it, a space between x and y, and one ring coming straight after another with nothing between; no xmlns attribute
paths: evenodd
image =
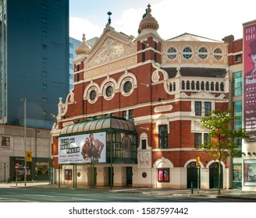
<svg viewBox="0 0 256 218"><path fill-rule="evenodd" d="M148 5L137 37L107 23L93 47L85 37L77 47L74 88L52 127L56 183L218 187L218 163L196 148L210 140L201 118L229 108L228 43L164 40L152 14ZM229 188L229 160L221 166Z"/></svg>

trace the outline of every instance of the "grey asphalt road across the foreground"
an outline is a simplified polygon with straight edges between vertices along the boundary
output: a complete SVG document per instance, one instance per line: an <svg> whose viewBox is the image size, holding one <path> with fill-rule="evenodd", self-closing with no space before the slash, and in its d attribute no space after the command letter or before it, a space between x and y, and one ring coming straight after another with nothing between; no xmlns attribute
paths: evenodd
<svg viewBox="0 0 256 218"><path fill-rule="evenodd" d="M0 188L0 202L255 202L250 199L152 195L51 188Z"/></svg>

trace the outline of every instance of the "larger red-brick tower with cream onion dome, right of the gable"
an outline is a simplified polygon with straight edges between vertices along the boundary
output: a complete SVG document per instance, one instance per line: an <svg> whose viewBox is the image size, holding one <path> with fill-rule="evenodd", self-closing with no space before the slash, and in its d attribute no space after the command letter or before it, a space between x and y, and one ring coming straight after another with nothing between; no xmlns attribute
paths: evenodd
<svg viewBox="0 0 256 218"><path fill-rule="evenodd" d="M151 15L151 5L148 4L146 14L142 17L137 36L138 62L153 60L161 62L161 42L162 38L158 35L159 25L154 16Z"/></svg>

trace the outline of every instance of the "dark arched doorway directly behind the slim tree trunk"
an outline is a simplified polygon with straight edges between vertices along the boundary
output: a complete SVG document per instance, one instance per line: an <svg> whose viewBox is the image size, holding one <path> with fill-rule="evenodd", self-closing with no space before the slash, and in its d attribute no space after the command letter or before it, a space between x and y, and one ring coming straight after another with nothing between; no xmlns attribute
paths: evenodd
<svg viewBox="0 0 256 218"><path fill-rule="evenodd" d="M220 188L223 188L223 170L220 170ZM210 184L209 188L218 188L219 186L219 163L214 162L209 166Z"/></svg>

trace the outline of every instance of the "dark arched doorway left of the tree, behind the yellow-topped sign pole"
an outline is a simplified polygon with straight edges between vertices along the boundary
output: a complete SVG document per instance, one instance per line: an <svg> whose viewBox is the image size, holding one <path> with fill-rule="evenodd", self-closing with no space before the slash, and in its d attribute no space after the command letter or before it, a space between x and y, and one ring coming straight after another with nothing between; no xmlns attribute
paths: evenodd
<svg viewBox="0 0 256 218"><path fill-rule="evenodd" d="M193 183L193 187L197 188L197 180L198 180L198 169L196 162L190 162L187 164L187 188L191 188ZM201 180L201 171L199 169L199 188L200 188L200 180Z"/></svg>

